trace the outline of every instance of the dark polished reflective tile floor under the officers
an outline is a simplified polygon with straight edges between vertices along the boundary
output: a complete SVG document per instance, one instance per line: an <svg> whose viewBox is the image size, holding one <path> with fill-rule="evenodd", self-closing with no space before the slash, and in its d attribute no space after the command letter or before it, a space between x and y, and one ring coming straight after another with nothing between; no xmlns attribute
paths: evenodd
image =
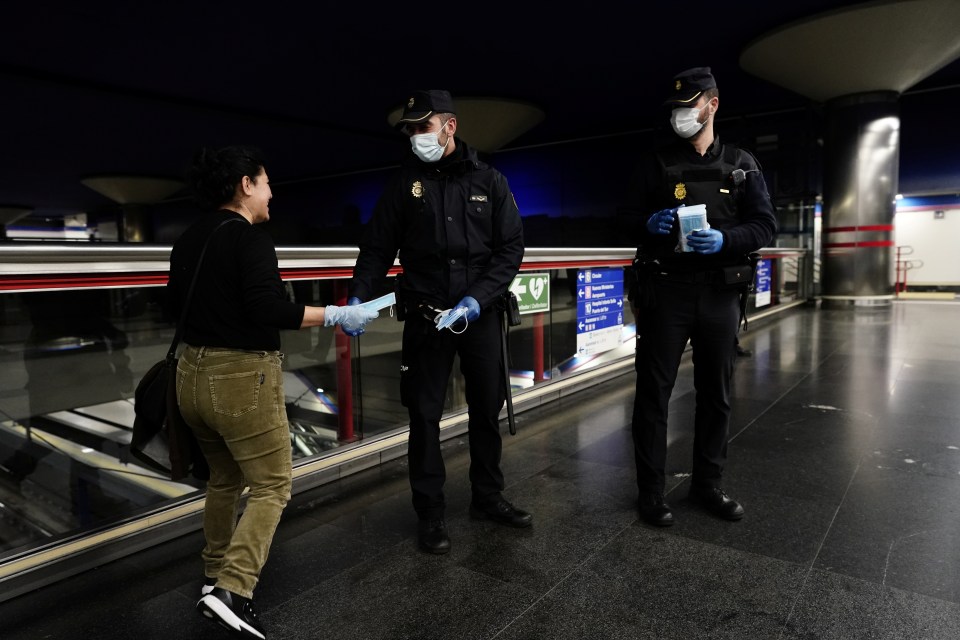
<svg viewBox="0 0 960 640"><path fill-rule="evenodd" d="M673 527L637 517L623 375L504 436L531 529L470 519L464 438L444 447L446 556L417 550L403 459L296 496L256 592L267 637L960 637L960 304L781 315L741 336L725 488L742 521L685 498L687 354ZM190 534L0 604L0 638L227 638L193 608L201 546Z"/></svg>

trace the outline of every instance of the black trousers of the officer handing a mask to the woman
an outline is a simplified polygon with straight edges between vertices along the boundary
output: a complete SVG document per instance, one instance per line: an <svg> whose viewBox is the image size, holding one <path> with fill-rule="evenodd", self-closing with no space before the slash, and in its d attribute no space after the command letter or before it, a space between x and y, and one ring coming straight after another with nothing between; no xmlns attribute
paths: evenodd
<svg viewBox="0 0 960 640"><path fill-rule="evenodd" d="M440 451L440 418L455 355L460 356L466 385L473 500L483 503L500 498L500 410L506 400L501 352L497 312L481 313L459 335L448 329L437 331L436 325L417 311L407 313L400 396L410 412L410 487L413 508L421 520L444 515L446 470Z"/></svg>

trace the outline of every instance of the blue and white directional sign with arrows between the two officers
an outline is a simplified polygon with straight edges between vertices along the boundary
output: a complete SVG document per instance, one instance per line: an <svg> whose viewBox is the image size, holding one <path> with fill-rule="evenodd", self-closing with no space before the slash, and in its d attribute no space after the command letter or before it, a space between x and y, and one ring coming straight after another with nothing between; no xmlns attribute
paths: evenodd
<svg viewBox="0 0 960 640"><path fill-rule="evenodd" d="M623 329L623 270L577 272L577 353L602 353L620 346Z"/></svg>

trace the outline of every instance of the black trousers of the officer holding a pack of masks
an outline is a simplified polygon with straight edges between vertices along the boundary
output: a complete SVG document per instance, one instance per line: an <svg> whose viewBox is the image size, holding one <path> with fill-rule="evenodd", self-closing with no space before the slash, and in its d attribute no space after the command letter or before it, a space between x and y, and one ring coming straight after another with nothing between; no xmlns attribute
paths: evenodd
<svg viewBox="0 0 960 640"><path fill-rule="evenodd" d="M667 458L667 407L689 339L696 388L692 482L720 483L727 459L730 378L736 359L739 293L712 283L654 276L652 308L637 318L637 392L633 442L641 494L663 493Z"/></svg>

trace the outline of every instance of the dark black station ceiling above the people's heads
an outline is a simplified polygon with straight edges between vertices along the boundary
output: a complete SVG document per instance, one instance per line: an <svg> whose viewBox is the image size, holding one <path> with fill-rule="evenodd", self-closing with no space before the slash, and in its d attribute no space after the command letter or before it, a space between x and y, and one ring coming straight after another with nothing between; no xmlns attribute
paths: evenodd
<svg viewBox="0 0 960 640"><path fill-rule="evenodd" d="M95 210L116 196L84 180L179 179L200 145L260 146L274 184L391 166L405 142L388 116L418 88L532 107L535 124L506 132L503 149L649 129L672 76L693 66L713 68L721 115L810 106L746 71L744 52L798 21L889 4L17 3L0 38L0 210ZM857 28L833 44L862 46ZM958 84L953 61L907 90Z"/></svg>

